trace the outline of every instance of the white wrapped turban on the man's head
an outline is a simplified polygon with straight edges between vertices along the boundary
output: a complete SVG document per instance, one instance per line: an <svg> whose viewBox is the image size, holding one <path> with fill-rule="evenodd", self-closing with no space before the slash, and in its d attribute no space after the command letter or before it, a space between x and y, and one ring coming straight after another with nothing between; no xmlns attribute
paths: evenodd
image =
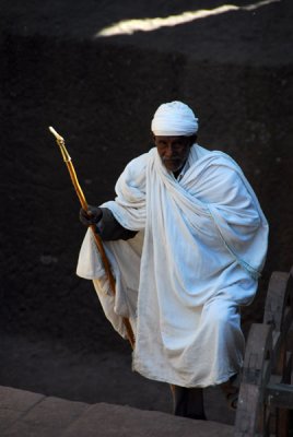
<svg viewBox="0 0 293 437"><path fill-rule="evenodd" d="M156 109L152 132L159 137L190 137L198 131L198 119L181 102L164 103Z"/></svg>

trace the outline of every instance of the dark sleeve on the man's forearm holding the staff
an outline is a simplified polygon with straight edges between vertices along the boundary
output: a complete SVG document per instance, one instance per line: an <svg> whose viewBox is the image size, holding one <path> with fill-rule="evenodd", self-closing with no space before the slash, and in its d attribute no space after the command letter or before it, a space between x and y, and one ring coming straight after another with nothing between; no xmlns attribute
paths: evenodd
<svg viewBox="0 0 293 437"><path fill-rule="evenodd" d="M103 241L113 241L117 239L127 240L137 235L137 231L126 229L120 225L110 210L107 208L101 208L101 210L103 211L103 216L96 227Z"/></svg>

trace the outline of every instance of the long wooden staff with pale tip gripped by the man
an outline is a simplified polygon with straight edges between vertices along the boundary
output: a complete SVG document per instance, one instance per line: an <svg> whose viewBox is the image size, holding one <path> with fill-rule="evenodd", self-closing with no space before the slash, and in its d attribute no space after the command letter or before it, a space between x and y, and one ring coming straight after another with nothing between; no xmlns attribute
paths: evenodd
<svg viewBox="0 0 293 437"><path fill-rule="evenodd" d="M66 149L65 139L61 135L59 135L59 133L57 133L56 130L52 127L49 127L49 131L54 134L54 137L56 138L56 141L57 141L57 144L60 147L61 154L63 156L63 161L65 161L65 163L67 165L68 172L70 174L70 177L71 177L72 184L74 186L75 192L78 194L78 198L80 200L81 206L82 206L82 209L84 211L87 211L87 202L85 200L85 197L84 197L83 191L81 189L81 186L79 184L78 176L77 176L77 173L74 170L71 157L70 157L70 155L69 155L69 153L68 153L68 151ZM109 284L110 284L112 293L115 295L115 293L116 293L115 279L114 279L112 270L110 270L110 264L109 264L109 261L107 259L107 256L106 256L106 252L105 252L105 249L104 249L104 246L103 246L103 241L102 241L99 235L96 234L96 232L95 232L96 231L96 226L95 225L91 225L90 227L91 227L91 229L93 232L93 236L94 236L97 249L98 249L98 251L101 253L102 261L103 261L103 264L104 264L104 269L105 269L107 279L109 281ZM125 328L126 328L127 338L129 340L129 343L131 344L131 347L134 349L134 334L133 334L130 321L126 317L124 317L122 320L124 320L124 324L125 324Z"/></svg>

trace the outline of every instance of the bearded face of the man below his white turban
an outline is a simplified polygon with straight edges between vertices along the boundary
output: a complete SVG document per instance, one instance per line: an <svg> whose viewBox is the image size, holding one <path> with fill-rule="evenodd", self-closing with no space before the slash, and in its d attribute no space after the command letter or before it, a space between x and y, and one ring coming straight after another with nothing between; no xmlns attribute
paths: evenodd
<svg viewBox="0 0 293 437"><path fill-rule="evenodd" d="M156 137L154 143L163 165L169 172L178 172L185 164L191 145L196 141L192 137Z"/></svg>

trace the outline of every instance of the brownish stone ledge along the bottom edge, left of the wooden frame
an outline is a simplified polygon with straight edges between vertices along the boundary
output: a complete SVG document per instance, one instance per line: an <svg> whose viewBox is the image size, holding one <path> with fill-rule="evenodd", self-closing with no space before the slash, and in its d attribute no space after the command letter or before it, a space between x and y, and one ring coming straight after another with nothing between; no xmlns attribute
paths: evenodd
<svg viewBox="0 0 293 437"><path fill-rule="evenodd" d="M232 437L233 426L0 386L1 437Z"/></svg>

